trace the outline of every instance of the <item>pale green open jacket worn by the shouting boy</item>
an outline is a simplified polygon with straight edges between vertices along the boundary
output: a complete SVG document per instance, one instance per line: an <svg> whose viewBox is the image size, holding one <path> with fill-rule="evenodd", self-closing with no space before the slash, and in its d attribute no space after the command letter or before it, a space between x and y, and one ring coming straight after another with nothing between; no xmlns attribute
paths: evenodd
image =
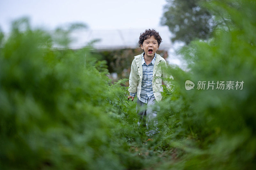
<svg viewBox="0 0 256 170"><path fill-rule="evenodd" d="M130 85L129 85L128 91L131 93L137 92L138 99L140 99L141 83L142 83L142 75L143 75L142 74L143 70L141 65L142 54L134 57L134 60L132 61L131 73L129 77ZM153 93L157 102L159 102L162 99L162 95L161 95L161 92L163 92L162 77L164 78L167 77L164 67L167 67L166 61L159 54L156 54L156 61L153 68L152 88L153 88ZM168 82L164 81L164 84L166 85L167 88L170 87L170 84Z"/></svg>

